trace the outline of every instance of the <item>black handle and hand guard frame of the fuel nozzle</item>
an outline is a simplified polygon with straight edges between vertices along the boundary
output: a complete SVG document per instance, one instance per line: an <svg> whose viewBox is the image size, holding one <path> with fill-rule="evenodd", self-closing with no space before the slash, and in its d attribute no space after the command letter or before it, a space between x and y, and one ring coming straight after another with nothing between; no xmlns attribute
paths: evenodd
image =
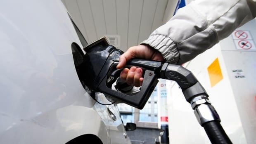
<svg viewBox="0 0 256 144"><path fill-rule="evenodd" d="M140 91L133 95L128 95L116 90L112 90L112 84L120 76L122 71L121 69L116 69L117 64L118 62L115 58L108 58L107 61L105 61L101 72L95 79L94 83L97 85L93 88L95 88L95 91L102 92L119 102L126 103L137 109L143 109L150 95L154 91L156 84L158 83L157 72L160 71L162 63L159 61L149 61L143 59L131 59L127 62L127 67L136 66L144 70L144 80L142 86L140 87Z"/></svg>

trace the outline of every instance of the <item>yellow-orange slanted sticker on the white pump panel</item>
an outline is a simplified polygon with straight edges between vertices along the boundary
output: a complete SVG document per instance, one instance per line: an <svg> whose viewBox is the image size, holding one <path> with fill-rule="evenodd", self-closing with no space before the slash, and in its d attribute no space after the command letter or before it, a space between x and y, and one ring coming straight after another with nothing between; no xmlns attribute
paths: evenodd
<svg viewBox="0 0 256 144"><path fill-rule="evenodd" d="M213 87L218 82L220 82L220 80L223 79L218 58L215 59L213 61L213 63L211 63L210 66L208 66L207 70L208 70L208 73L209 73L211 87Z"/></svg>

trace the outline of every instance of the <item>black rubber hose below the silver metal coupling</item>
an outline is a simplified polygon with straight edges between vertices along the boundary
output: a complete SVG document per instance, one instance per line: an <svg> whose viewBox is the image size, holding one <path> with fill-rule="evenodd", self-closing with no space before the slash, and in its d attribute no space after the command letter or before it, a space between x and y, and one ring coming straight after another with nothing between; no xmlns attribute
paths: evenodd
<svg viewBox="0 0 256 144"><path fill-rule="evenodd" d="M209 121L203 127L212 144L232 144L219 121Z"/></svg>

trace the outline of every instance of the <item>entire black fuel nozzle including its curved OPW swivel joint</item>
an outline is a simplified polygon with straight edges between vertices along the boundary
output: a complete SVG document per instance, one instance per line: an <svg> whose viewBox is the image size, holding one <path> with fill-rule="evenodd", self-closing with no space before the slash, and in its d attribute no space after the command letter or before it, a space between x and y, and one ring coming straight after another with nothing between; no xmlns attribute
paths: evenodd
<svg viewBox="0 0 256 144"><path fill-rule="evenodd" d="M109 45L106 38L101 38L84 48L86 54L84 65L88 68L85 71L85 84L96 92L102 92L111 99L116 99L138 109L143 109L150 95L152 94L158 78L175 80L183 90L187 102L190 102L197 95L208 94L200 85L194 75L179 65L162 63L145 59L132 59L127 62L126 67L136 66L142 68L143 83L140 92L134 95L124 94L112 90L111 86L120 76L122 69L116 69L119 57L123 51Z"/></svg>

